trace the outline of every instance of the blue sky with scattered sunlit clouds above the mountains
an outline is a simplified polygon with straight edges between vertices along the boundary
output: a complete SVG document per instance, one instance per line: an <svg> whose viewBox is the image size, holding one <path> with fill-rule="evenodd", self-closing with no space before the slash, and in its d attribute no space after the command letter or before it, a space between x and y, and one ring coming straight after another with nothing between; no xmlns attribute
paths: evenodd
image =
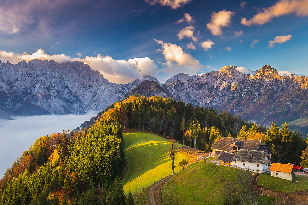
<svg viewBox="0 0 308 205"><path fill-rule="evenodd" d="M0 60L81 61L109 81L236 65L308 75L308 0L0 0Z"/></svg>

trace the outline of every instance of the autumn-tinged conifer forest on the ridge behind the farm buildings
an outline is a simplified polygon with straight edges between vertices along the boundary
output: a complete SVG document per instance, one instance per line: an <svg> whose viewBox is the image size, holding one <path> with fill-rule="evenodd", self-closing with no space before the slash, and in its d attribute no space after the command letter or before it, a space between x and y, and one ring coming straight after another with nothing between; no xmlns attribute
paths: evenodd
<svg viewBox="0 0 308 205"><path fill-rule="evenodd" d="M287 124L281 129L274 123L266 128L229 112L159 96L130 96L99 112L97 118L104 123L120 123L124 131L136 129L174 137L184 145L207 152L222 136L262 140L277 163L299 164L307 145L301 133L296 129L291 132Z"/></svg>

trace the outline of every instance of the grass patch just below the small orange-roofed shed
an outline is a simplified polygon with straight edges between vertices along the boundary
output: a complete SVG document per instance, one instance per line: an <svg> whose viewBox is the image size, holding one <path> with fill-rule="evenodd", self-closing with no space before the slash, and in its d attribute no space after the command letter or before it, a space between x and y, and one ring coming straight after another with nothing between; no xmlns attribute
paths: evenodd
<svg viewBox="0 0 308 205"><path fill-rule="evenodd" d="M308 178L303 176L295 176L292 181L287 179L280 179L271 175L262 174L257 183L265 189L273 191L282 191L286 193L293 193L296 191L308 191Z"/></svg>

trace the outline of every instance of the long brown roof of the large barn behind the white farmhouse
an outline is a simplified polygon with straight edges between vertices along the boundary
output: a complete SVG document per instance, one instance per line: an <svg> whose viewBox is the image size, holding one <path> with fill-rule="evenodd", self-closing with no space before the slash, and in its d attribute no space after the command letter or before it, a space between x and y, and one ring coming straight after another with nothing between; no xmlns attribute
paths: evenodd
<svg viewBox="0 0 308 205"><path fill-rule="evenodd" d="M261 144L265 144L261 140L248 140L248 139L239 139L239 138L233 138L233 137L221 137L213 144L211 149L231 151L233 150L233 146L231 145L235 142L238 143L239 141L244 143L242 145L242 148L249 148L250 150L257 150Z"/></svg>

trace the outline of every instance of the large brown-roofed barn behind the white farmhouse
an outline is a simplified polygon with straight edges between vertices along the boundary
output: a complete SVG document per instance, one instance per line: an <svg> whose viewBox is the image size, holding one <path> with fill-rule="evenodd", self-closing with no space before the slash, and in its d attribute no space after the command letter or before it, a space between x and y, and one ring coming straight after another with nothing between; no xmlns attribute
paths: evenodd
<svg viewBox="0 0 308 205"><path fill-rule="evenodd" d="M214 154L221 154L224 152L234 153L237 152L237 150L247 148L249 150L265 151L267 154L272 153L270 148L261 140L248 140L233 137L221 137L211 147Z"/></svg>

